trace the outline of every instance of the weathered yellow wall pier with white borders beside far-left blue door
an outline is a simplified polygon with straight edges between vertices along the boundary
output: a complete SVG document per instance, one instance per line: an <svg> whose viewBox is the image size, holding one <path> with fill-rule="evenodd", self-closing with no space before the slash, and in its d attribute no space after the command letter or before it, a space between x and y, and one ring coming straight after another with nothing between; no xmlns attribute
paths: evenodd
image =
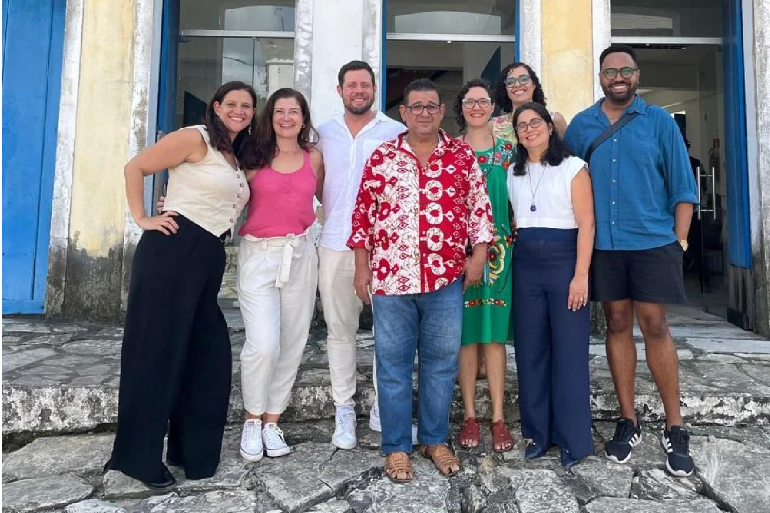
<svg viewBox="0 0 770 513"><path fill-rule="evenodd" d="M122 168L147 142L153 8L142 0L68 4L48 315L122 313L138 237Z"/></svg>

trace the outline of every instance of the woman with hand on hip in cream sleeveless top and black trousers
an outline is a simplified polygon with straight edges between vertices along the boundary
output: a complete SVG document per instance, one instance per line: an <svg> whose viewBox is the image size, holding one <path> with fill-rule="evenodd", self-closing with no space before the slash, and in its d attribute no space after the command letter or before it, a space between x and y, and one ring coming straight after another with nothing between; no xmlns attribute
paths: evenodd
<svg viewBox="0 0 770 513"><path fill-rule="evenodd" d="M121 354L118 430L109 467L165 490L211 477L230 394L232 355L216 298L224 241L249 199L233 148L256 128L256 94L228 82L206 108L206 125L166 135L126 165L126 196L144 230L132 260ZM165 212L147 215L144 177L169 169Z"/></svg>

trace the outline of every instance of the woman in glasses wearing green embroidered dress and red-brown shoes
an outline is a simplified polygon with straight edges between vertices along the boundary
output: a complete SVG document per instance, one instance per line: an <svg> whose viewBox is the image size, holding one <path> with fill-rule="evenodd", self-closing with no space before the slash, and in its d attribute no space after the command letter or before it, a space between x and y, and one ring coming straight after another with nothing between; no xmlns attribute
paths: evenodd
<svg viewBox="0 0 770 513"><path fill-rule="evenodd" d="M458 441L461 447L479 445L480 425L476 420L474 398L479 354L483 353L492 401L492 440L494 451L509 451L514 445L503 416L506 352L505 343L513 336L511 322L511 249L513 234L508 215L507 168L513 162L514 145L494 138L488 124L494 110L491 88L482 80L471 80L457 95L454 111L460 137L476 153L487 182L496 237L490 243L484 279L465 291L463 334L460 348L460 391L464 422ZM483 349L479 351L479 347Z"/></svg>

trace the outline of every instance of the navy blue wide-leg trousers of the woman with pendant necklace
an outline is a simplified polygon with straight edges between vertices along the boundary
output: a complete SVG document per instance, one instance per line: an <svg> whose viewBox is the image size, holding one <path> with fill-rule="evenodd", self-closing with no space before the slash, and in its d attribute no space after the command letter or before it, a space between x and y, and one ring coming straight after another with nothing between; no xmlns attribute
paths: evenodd
<svg viewBox="0 0 770 513"><path fill-rule="evenodd" d="M567 308L577 230L520 228L514 315L521 434L537 445L594 451L589 398L588 306Z"/></svg>

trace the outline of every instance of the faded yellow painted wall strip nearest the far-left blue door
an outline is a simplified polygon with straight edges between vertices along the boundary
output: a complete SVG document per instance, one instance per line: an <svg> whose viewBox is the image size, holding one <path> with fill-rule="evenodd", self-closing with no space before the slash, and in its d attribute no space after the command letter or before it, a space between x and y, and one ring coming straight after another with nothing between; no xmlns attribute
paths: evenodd
<svg viewBox="0 0 770 513"><path fill-rule="evenodd" d="M70 244L89 257L122 248L135 0L85 0Z"/></svg>

